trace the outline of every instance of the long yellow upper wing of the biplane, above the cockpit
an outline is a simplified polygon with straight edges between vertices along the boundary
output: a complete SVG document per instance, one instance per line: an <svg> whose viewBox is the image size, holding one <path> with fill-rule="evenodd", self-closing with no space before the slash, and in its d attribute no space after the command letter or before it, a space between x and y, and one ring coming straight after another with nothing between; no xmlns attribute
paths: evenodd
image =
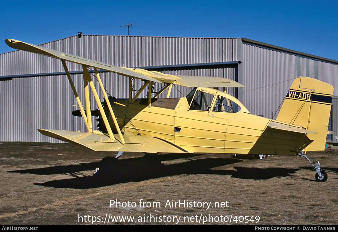
<svg viewBox="0 0 338 232"><path fill-rule="evenodd" d="M156 71L147 71L144 69L129 69L124 67L118 67L114 65L108 65L106 63L98 62L95 60L85 59L79 56L74 56L67 53L62 53L52 49L44 48L38 45L32 45L24 43L18 40L5 40L6 44L14 49L19 49L27 52L38 53L45 56L50 56L56 59L66 60L69 62L78 63L89 67L105 70L120 74L122 76L138 78L142 80L148 80L158 83L166 84L179 84L188 87L244 87L236 81L232 81L221 77L200 77L200 76L173 76L163 74Z"/></svg>

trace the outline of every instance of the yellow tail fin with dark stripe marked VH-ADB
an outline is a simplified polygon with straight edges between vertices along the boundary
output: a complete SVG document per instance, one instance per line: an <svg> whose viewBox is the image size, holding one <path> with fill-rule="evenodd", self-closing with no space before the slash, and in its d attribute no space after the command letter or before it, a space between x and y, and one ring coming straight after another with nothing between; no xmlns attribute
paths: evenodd
<svg viewBox="0 0 338 232"><path fill-rule="evenodd" d="M307 134L313 142L305 151L325 148L332 95L332 85L313 78L298 77L291 84L276 120L317 132Z"/></svg>

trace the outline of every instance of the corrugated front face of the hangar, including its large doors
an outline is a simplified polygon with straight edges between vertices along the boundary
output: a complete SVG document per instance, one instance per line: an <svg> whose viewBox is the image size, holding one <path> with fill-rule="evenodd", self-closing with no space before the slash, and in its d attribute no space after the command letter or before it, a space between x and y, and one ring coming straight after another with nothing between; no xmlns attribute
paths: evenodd
<svg viewBox="0 0 338 232"><path fill-rule="evenodd" d="M29 41L27 41L29 42ZM182 38L149 36L77 35L42 44L50 49L124 67L148 67L237 61L240 38ZM81 71L74 63L68 69ZM3 112L0 141L60 142L40 134L37 129L86 131L82 118L72 116L78 109L61 61L23 51L0 54L0 98ZM173 75L220 76L234 80L235 69L171 68ZM128 78L112 73L100 74L108 92L127 97ZM19 78L20 77L20 78ZM83 79L72 75L82 104ZM95 81L94 81L95 83ZM140 85L136 82L135 85ZM189 89L173 88L172 96L185 96ZM96 88L99 87L96 85ZM233 90L228 89L230 93ZM103 100L101 94L100 99ZM91 108L96 108L91 96ZM95 117L92 118L95 122ZM94 124L94 129L96 125Z"/></svg>

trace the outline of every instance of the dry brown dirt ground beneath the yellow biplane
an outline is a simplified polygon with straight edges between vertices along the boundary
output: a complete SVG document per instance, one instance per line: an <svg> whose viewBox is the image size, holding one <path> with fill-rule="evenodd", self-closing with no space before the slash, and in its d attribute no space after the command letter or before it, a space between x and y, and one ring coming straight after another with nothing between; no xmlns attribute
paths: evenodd
<svg viewBox="0 0 338 232"><path fill-rule="evenodd" d="M0 143L0 224L338 224L338 152L331 149L307 154L320 161L326 182L297 156L124 153L93 175L108 155L70 144Z"/></svg>

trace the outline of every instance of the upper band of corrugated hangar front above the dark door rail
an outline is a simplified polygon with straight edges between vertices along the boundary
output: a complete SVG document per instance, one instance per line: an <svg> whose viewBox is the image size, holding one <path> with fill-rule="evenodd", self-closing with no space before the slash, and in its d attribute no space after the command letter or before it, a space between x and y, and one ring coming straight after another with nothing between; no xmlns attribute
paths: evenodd
<svg viewBox="0 0 338 232"><path fill-rule="evenodd" d="M77 35L40 46L123 67L237 60L240 38ZM26 41L25 41L26 42ZM0 54L0 76L63 72L59 60L24 51ZM70 71L81 70L71 63Z"/></svg>

